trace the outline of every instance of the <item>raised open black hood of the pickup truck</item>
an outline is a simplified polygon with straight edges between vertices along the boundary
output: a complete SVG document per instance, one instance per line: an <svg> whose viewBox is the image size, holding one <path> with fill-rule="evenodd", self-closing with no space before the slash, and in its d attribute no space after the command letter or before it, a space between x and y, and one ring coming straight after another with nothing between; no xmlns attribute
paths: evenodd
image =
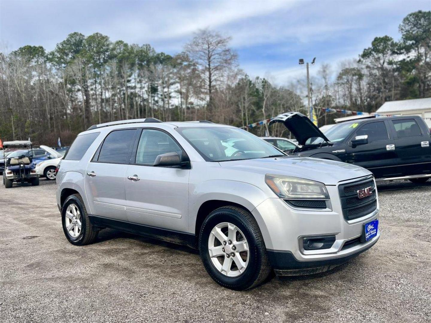
<svg viewBox="0 0 431 323"><path fill-rule="evenodd" d="M322 131L316 127L309 118L299 112L287 112L276 116L269 124L282 122L284 126L294 134L300 145L305 145L305 142L312 137L320 137L329 142Z"/></svg>

